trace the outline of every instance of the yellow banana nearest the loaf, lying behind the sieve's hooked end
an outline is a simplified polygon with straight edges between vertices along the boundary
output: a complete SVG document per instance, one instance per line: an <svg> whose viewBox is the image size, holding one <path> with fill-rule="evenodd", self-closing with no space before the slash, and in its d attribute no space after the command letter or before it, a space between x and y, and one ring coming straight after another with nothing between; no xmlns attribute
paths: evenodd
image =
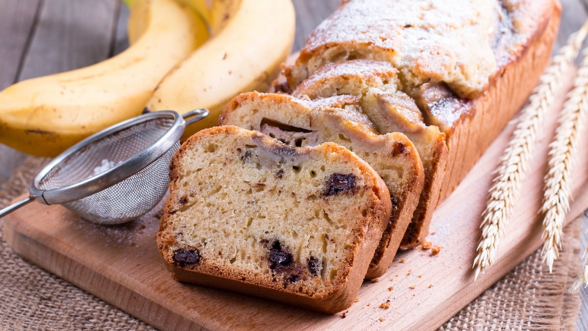
<svg viewBox="0 0 588 331"><path fill-rule="evenodd" d="M266 91L290 54L295 13L290 0L215 0L212 38L176 65L147 102L147 110L211 111L184 137L216 125L225 104L240 92Z"/></svg>

